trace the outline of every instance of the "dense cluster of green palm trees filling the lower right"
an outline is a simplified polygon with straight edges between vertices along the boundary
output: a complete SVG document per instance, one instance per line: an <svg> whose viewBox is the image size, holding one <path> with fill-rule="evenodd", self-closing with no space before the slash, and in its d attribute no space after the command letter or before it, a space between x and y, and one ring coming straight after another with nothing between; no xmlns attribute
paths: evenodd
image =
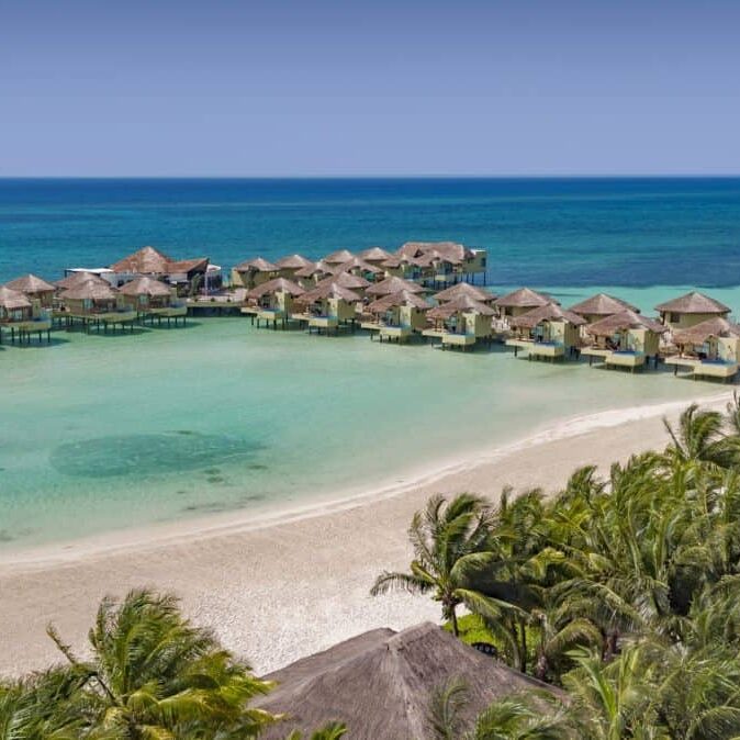
<svg viewBox="0 0 740 740"><path fill-rule="evenodd" d="M461 728L464 687L441 687L436 738L740 737L738 397L666 433L662 451L576 470L554 495L436 496L414 517L408 571L373 593L431 595L456 635L559 689Z"/></svg>

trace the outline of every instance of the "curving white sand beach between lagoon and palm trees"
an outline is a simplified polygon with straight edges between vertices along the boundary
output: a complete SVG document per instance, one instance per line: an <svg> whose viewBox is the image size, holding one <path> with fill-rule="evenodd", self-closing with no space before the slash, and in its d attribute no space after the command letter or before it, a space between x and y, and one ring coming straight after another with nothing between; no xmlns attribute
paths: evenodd
<svg viewBox="0 0 740 740"><path fill-rule="evenodd" d="M710 391L705 386L697 400L724 408L730 392ZM83 653L100 598L142 585L181 596L188 615L211 626L260 673L370 628L438 620L437 606L426 598L368 595L378 573L408 563L406 528L430 494L472 491L495 501L506 485L553 490L579 466L606 470L614 460L664 446L662 417L675 418L685 406L681 401L569 419L351 501L257 519L237 512L4 557L0 673L58 659L45 635L52 620Z"/></svg>

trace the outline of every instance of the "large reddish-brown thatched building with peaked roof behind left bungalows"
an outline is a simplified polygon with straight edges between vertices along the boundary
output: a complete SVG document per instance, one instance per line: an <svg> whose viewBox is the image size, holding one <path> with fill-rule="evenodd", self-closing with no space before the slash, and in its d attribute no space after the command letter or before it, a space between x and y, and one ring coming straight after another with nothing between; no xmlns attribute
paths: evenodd
<svg viewBox="0 0 740 740"><path fill-rule="evenodd" d="M186 294L200 288L220 288L221 268L210 265L208 257L176 260L155 247L142 247L111 265L114 287L123 285L143 276L175 285Z"/></svg>

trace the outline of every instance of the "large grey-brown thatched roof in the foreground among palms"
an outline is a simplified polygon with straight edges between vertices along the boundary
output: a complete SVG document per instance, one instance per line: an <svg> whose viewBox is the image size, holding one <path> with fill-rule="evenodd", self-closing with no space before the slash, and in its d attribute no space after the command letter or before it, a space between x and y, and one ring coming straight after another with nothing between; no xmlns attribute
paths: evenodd
<svg viewBox="0 0 740 740"><path fill-rule="evenodd" d="M467 685L466 722L495 699L550 689L430 623L402 632L374 629L265 677L278 687L255 704L288 715L266 740L294 728L313 731L330 719L345 722L352 740L427 738L431 698L452 679Z"/></svg>

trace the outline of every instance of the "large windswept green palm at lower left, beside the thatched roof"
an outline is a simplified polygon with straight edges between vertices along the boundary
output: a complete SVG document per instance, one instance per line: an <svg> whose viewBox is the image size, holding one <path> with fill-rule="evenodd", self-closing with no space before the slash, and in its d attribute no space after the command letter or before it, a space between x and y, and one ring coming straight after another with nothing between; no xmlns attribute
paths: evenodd
<svg viewBox="0 0 740 740"><path fill-rule="evenodd" d="M132 591L104 598L78 660L56 629L48 634L82 676L79 707L89 738L251 738L277 718L248 706L271 684L184 619L172 596Z"/></svg>

